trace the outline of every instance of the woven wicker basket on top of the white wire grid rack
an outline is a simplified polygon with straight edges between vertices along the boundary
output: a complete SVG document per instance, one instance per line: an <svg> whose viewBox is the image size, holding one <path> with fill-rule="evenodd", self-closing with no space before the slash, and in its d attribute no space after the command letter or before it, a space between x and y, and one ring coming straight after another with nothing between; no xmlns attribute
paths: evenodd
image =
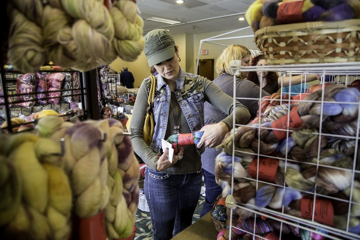
<svg viewBox="0 0 360 240"><path fill-rule="evenodd" d="M271 65L357 62L360 19L265 27L255 42Z"/></svg>

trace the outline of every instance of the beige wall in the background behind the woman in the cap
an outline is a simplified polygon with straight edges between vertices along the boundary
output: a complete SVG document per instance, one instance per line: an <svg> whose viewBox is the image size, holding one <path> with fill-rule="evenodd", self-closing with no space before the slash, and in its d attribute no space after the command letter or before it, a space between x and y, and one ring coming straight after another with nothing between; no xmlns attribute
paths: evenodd
<svg viewBox="0 0 360 240"><path fill-rule="evenodd" d="M218 32L209 32L209 33L199 33L199 34L190 34L182 33L173 35L175 43L179 46L179 56L181 58L180 67L183 68L186 72L195 73L196 59L198 58L198 51L200 40L213 37L222 33L230 32L227 31L218 31ZM235 33L221 36L223 37L235 37L235 36L245 36L252 35L253 32L250 28L246 30L241 30ZM257 47L254 43L253 37L246 37L242 39L230 39L230 40L219 40L213 41L224 45L231 44L241 44L249 49L257 50ZM201 49L208 49L208 55L200 55L200 59L215 59L222 53L222 50L225 49L225 46L219 46L215 44L210 44L204 42ZM124 60L117 58L110 64L115 71L122 70L123 66L127 66L130 72L134 75L135 82L134 87L139 87L144 78L150 76L150 67L148 66L147 59L145 54L142 52L138 59L134 62L125 62ZM214 76L216 78L217 76Z"/></svg>

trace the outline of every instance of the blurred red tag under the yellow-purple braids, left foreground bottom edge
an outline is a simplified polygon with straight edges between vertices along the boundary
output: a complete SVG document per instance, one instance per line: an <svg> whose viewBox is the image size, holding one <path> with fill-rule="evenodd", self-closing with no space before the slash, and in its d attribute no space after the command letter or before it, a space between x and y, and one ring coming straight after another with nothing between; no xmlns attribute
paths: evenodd
<svg viewBox="0 0 360 240"><path fill-rule="evenodd" d="M79 219L80 240L106 240L104 210L93 217Z"/></svg>

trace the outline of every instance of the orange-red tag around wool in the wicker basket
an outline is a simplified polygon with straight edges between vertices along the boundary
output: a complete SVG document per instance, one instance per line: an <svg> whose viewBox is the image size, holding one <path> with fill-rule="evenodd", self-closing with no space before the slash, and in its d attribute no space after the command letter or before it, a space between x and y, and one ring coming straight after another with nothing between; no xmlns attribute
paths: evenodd
<svg viewBox="0 0 360 240"><path fill-rule="evenodd" d="M289 1L283 2L278 8L276 19L279 23L301 23L304 21L302 18L302 5L304 1Z"/></svg>

